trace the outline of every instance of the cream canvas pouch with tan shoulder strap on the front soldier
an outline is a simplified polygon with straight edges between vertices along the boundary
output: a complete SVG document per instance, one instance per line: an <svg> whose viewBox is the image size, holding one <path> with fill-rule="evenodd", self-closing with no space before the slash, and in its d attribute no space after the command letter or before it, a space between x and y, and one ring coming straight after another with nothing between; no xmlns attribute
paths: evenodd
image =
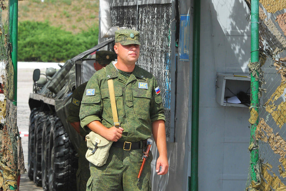
<svg viewBox="0 0 286 191"><path fill-rule="evenodd" d="M118 122L112 78L109 78L107 80L107 83L110 94L110 103L111 103L114 126L119 128L120 123ZM106 164L106 160L109 155L109 149L112 143L113 141L109 141L106 138L102 137L101 135L91 131L88 135L86 135L86 145L88 147L88 150L86 151L86 159L95 166L102 166Z"/></svg>

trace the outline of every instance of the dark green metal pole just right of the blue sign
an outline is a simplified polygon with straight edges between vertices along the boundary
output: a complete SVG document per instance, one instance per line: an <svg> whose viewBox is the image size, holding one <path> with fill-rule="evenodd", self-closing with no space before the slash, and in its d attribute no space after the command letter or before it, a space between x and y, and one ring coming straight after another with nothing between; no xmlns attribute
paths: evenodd
<svg viewBox="0 0 286 191"><path fill-rule="evenodd" d="M192 68L192 141L191 184L189 190L198 191L198 121L200 86L200 0L194 1L193 68Z"/></svg>

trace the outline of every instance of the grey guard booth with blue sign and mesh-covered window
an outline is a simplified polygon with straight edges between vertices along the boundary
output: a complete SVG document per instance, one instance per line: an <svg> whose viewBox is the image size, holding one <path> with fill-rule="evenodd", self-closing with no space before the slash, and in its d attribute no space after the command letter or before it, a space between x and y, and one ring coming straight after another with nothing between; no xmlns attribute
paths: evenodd
<svg viewBox="0 0 286 191"><path fill-rule="evenodd" d="M250 11L242 0L202 0L200 4L200 14L194 14L193 0L100 0L99 43L114 38L119 28L140 31L142 46L137 65L151 72L160 86L170 167L168 174L156 174L159 153L151 138L152 190L191 188L194 51L200 53L200 71L195 74L200 79L199 92L194 92L199 95L198 190L245 190L249 109L243 104L224 104L221 99L231 95L229 90L247 93L247 77L229 81L225 76L249 76ZM194 26L198 17L200 26ZM200 48L193 47L194 33L200 34ZM112 51L113 45L102 49ZM77 64L77 84L82 83L81 67ZM217 84L218 74L225 80L223 90Z"/></svg>

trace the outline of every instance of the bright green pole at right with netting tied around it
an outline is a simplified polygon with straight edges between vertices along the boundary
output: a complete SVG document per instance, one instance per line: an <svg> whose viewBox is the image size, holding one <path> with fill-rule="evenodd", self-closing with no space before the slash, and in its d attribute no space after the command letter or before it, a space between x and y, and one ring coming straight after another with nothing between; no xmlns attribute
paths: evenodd
<svg viewBox="0 0 286 191"><path fill-rule="evenodd" d="M251 0L251 62L259 63L259 0ZM257 72L257 71L255 71ZM257 72L258 74L258 72ZM251 74L251 106L257 111L259 108L259 80L255 80L255 77ZM255 130L258 125L258 118L254 124L251 124L250 129L250 143L258 145L255 138ZM251 181L257 182L255 165L259 159L258 149L251 150L250 153L250 168L251 168Z"/></svg>

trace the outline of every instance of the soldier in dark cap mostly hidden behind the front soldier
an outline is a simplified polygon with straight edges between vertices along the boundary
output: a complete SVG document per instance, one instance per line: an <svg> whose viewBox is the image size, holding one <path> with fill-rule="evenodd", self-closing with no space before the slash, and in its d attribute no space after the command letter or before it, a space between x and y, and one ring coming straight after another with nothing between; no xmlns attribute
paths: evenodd
<svg viewBox="0 0 286 191"><path fill-rule="evenodd" d="M95 54L96 62L94 63L94 69L100 70L106 65L108 65L111 61L115 60L117 55L114 52L100 50L97 51ZM72 95L72 102L69 104L68 108L68 118L67 121L74 127L74 129L83 137L80 147L79 147L79 159L78 159L78 171L76 173L77 178L77 190L82 191L86 190L86 183L88 178L90 177L90 170L89 170L89 162L86 160L86 142L85 136L88 132L84 131L84 129L80 128L80 105L82 101L82 96L84 94L84 90L86 88L85 82L78 86Z"/></svg>

